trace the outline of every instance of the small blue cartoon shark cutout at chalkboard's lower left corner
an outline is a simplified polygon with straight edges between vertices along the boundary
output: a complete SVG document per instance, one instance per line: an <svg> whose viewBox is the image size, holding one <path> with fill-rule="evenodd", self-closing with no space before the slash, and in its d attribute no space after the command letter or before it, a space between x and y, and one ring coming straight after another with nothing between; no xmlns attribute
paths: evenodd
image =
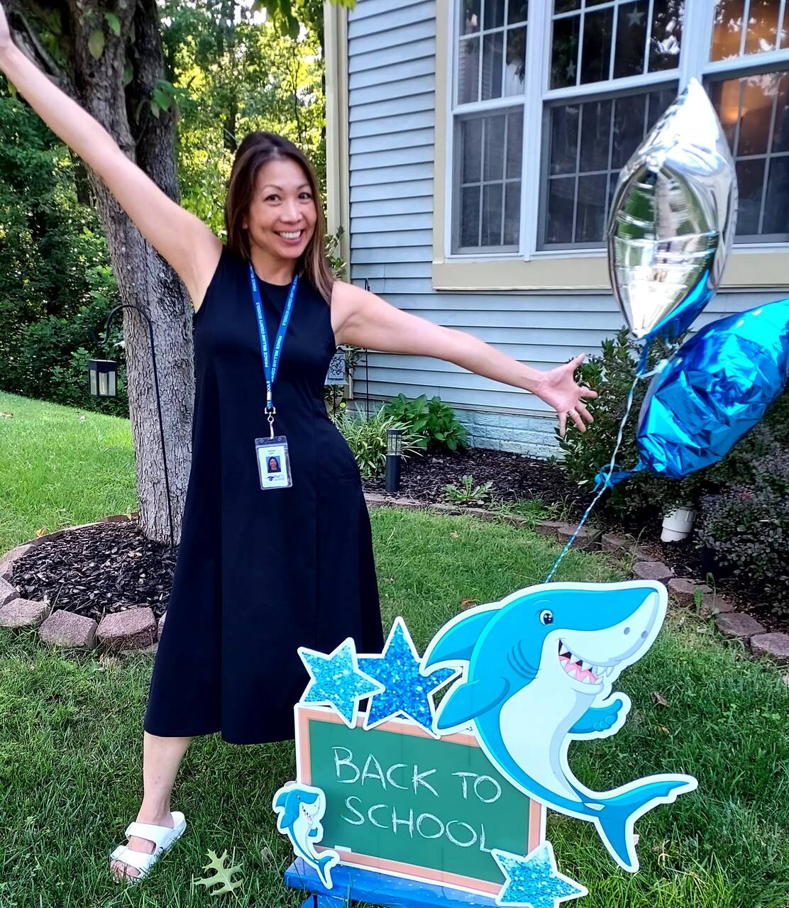
<svg viewBox="0 0 789 908"><path fill-rule="evenodd" d="M340 863L337 852L317 854L314 845L323 838L321 819L326 812L326 796L312 785L283 785L274 795L271 807L277 814L277 829L287 835L293 852L318 872L321 883L331 889L331 868Z"/></svg>

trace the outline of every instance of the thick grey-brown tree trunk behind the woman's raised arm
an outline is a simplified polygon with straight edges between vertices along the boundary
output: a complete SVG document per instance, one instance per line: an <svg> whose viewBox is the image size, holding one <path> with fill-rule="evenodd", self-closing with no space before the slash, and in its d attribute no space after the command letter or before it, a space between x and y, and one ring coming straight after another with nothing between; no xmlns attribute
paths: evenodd
<svg viewBox="0 0 789 908"><path fill-rule="evenodd" d="M69 0L74 35L74 84L80 100L113 135L123 153L177 201L173 114L162 112L157 119L148 103L153 84L162 77L163 67L155 0L138 0L136 4L133 0L120 0L113 6L113 12L121 21L121 37L114 35L104 24L104 5L91 3L91 9L87 6L83 0ZM128 88L127 106L123 65L125 38L132 24L135 32L132 45L134 79ZM105 33L104 52L95 59L88 48L88 39L95 28L101 27ZM135 113L143 100L139 122L130 123L129 110ZM94 173L91 173L91 180L121 301L124 305L139 306L153 322L164 447L177 540L191 452L194 390L191 306L181 281L143 240L112 193ZM137 311L123 310L123 335L140 521L148 538L164 541L170 538L170 530L151 344L147 323Z"/></svg>

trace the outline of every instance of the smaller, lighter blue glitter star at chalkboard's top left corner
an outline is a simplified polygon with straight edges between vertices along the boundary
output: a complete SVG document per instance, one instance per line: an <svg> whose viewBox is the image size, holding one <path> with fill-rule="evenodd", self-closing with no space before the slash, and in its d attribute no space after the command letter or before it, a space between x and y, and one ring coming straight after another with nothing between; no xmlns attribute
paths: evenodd
<svg viewBox="0 0 789 908"><path fill-rule="evenodd" d="M300 702L332 706L345 724L353 728L359 701L383 690L380 684L360 673L353 637L343 640L329 656L306 646L300 646L297 652L311 677Z"/></svg>

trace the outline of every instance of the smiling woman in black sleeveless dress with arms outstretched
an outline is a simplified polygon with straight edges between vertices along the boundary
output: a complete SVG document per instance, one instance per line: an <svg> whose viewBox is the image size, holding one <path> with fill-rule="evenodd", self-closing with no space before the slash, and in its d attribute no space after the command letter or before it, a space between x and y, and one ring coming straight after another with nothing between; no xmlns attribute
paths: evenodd
<svg viewBox="0 0 789 908"><path fill-rule="evenodd" d="M143 804L112 855L116 878L139 879L185 828L170 795L193 735L291 738L308 680L297 647L328 653L346 637L360 652L383 644L359 470L322 398L336 345L438 357L530 390L557 410L562 432L568 414L585 428L582 399L596 394L574 380L582 357L539 372L333 281L314 173L281 137L242 142L225 247L15 48L2 5L0 69L106 183L194 306L192 473L144 721ZM277 370L271 351L283 328ZM282 469L267 486L270 454Z"/></svg>

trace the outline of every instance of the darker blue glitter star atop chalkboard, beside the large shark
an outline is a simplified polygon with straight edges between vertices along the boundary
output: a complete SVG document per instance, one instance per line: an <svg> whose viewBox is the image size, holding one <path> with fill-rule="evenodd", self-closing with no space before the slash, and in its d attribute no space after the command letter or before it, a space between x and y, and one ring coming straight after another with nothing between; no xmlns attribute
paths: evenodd
<svg viewBox="0 0 789 908"><path fill-rule="evenodd" d="M438 668L429 675L419 671L419 653L402 618L395 618L380 656L359 656L360 669L384 686L370 701L364 727L372 728L392 716L409 716L435 736L436 706L430 696L458 674L453 668Z"/></svg>

